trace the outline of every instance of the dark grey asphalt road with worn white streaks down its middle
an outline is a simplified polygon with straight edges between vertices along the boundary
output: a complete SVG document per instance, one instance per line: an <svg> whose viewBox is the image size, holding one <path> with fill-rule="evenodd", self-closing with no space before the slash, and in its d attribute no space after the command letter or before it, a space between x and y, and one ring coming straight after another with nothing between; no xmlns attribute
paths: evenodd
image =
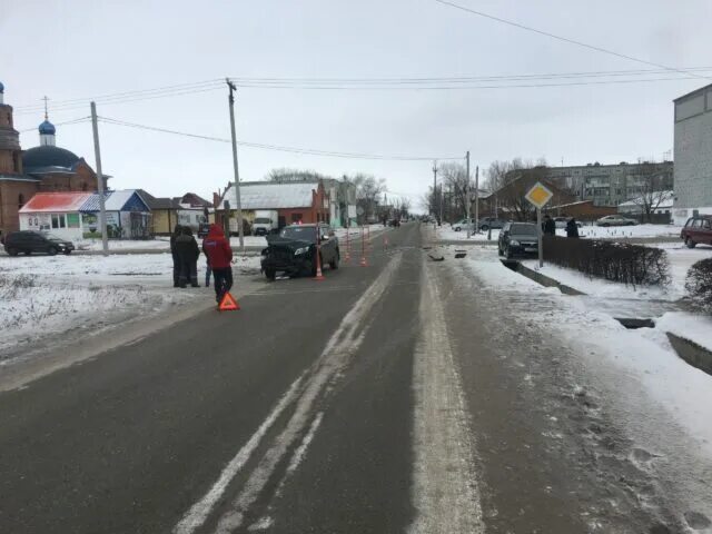
<svg viewBox="0 0 712 534"><path fill-rule="evenodd" d="M424 236L0 393L0 533L686 532L566 347Z"/></svg>

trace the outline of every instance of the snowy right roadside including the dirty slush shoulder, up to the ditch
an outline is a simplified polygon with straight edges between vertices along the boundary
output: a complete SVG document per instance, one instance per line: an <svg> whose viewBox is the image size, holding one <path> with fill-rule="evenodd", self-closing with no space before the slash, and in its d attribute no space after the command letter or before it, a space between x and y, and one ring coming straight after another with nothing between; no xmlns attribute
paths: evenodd
<svg viewBox="0 0 712 534"><path fill-rule="evenodd" d="M500 320L482 313L472 313L472 320L490 328L487 343L505 360L507 352L516 360L511 367L523 395L541 403L551 418L543 436L581 469L600 465L602 501L586 512L591 532L657 532L649 531L650 524L645 531L636 530L643 524L615 530L609 521L621 513L630 514L632 525L643 512L661 525L675 525L660 532L709 525L712 376L680 359L660 329L627 330L591 309L585 298L564 296L507 269L496 251L477 249L455 260L453 249L446 261L462 280L456 298L469 295L479 307L497 310ZM466 304L457 306L467 314ZM512 343L526 343L530 357ZM576 405L582 411L574 414ZM604 477L611 466L627 490Z"/></svg>

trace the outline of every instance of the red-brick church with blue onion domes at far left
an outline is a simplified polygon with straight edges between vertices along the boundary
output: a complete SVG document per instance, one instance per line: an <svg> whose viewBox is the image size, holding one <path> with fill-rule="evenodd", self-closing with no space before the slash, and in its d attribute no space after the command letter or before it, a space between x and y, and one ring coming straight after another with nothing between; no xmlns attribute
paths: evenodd
<svg viewBox="0 0 712 534"><path fill-rule="evenodd" d="M39 126L40 145L20 147L12 107L4 103L0 82L0 233L20 228L19 210L39 191L96 191L97 174L83 158L56 146L56 128L47 119ZM105 186L106 179L105 176Z"/></svg>

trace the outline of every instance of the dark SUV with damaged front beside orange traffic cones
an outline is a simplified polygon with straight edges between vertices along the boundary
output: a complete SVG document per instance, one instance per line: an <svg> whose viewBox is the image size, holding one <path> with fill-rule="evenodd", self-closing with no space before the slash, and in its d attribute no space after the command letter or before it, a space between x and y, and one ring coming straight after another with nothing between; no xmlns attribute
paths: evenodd
<svg viewBox="0 0 712 534"><path fill-rule="evenodd" d="M322 268L328 265L338 269L340 254L338 239L328 225L290 225L279 235L267 236L267 248L263 250L261 270L274 280L277 273L289 276L316 275L316 239L319 234Z"/></svg>

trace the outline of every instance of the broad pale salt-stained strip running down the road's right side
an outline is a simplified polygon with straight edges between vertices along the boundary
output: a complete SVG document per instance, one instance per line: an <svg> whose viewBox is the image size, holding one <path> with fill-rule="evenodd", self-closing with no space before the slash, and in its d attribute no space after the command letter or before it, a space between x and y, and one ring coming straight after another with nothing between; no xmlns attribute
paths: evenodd
<svg viewBox="0 0 712 534"><path fill-rule="evenodd" d="M414 474L411 534L484 533L474 437L441 296L423 267L421 338L413 366Z"/></svg>

